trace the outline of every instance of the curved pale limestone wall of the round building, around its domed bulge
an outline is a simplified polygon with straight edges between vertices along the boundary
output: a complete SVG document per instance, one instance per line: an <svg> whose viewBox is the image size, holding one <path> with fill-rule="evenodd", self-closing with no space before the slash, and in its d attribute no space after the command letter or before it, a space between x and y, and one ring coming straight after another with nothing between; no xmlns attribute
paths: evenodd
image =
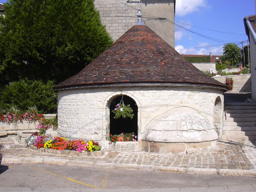
<svg viewBox="0 0 256 192"><path fill-rule="evenodd" d="M157 117L176 109L195 111L200 118L207 120L208 127L214 129L216 98L223 101L223 91L213 88L148 86L69 89L58 92L58 134L107 141L109 106L115 97L122 94L134 99L138 106L138 140L147 139L147 129ZM196 131L192 126L193 129Z"/></svg>

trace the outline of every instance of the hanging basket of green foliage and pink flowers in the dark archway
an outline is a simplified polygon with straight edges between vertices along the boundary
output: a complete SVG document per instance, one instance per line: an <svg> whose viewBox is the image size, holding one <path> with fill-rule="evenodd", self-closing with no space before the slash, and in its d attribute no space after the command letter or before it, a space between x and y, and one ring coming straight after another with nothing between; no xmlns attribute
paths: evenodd
<svg viewBox="0 0 256 192"><path fill-rule="evenodd" d="M121 103L117 104L115 106L115 109L112 110L112 112L115 114L114 119L122 118L133 118L133 110L131 109L130 105L123 105Z"/></svg>

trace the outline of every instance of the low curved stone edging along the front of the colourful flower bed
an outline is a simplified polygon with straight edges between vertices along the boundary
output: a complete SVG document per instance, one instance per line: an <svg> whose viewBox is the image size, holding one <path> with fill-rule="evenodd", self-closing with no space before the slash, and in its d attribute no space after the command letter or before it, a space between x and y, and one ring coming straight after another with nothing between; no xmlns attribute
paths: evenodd
<svg viewBox="0 0 256 192"><path fill-rule="evenodd" d="M55 149L46 149L46 148L36 148L33 145L29 145L28 148L38 151L38 152L45 152L45 153L52 153L52 154L61 154L61 155L69 155L69 156L101 156L105 154L104 150L101 151L94 151L94 152L78 152L78 151L70 151L70 150L55 150Z"/></svg>

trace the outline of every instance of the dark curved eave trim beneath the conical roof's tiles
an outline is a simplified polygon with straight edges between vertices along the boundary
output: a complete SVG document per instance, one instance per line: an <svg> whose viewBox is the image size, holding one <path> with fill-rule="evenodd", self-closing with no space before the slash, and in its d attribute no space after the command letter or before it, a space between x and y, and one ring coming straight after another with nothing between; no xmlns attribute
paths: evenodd
<svg viewBox="0 0 256 192"><path fill-rule="evenodd" d="M171 87L195 87L195 88L216 88L222 89L224 92L227 91L227 86L223 84L200 84L200 83L113 83L113 84L94 84L94 85L77 85L77 86L63 86L54 88L55 92L69 89L80 89L80 88L102 88L102 87L125 87L125 86L171 86Z"/></svg>

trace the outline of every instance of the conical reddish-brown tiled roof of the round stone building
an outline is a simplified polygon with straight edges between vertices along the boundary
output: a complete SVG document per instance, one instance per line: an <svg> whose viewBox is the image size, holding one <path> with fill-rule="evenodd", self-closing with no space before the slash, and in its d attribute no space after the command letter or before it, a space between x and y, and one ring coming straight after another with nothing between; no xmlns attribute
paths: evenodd
<svg viewBox="0 0 256 192"><path fill-rule="evenodd" d="M55 90L124 83L189 83L227 88L200 72L146 25L135 25Z"/></svg>

